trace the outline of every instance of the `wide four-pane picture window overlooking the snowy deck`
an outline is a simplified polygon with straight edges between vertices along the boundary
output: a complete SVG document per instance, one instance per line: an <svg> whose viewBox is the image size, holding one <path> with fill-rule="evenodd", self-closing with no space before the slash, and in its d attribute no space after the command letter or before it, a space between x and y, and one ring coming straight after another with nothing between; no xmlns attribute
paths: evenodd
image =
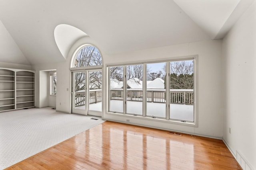
<svg viewBox="0 0 256 170"><path fill-rule="evenodd" d="M108 111L195 123L194 65L188 58L108 67Z"/></svg>

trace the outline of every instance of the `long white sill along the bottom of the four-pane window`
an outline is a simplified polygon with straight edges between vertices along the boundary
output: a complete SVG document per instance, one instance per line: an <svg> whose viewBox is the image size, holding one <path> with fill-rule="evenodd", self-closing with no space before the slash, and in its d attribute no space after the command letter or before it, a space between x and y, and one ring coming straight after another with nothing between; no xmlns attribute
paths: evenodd
<svg viewBox="0 0 256 170"><path fill-rule="evenodd" d="M162 122L162 123L172 123L172 124L177 124L177 125L198 127L198 125L196 123L192 123L192 122L181 122L181 121L175 121L175 120L167 120L167 119L152 118L152 117L142 117L139 115L135 116L135 115L122 114L122 113L113 113L113 112L107 112L106 114L120 116L120 117L130 117L130 118L134 118L134 119L142 119L142 120L147 120L147 121L158 121L158 122ZM129 122L124 122L124 123L129 123Z"/></svg>

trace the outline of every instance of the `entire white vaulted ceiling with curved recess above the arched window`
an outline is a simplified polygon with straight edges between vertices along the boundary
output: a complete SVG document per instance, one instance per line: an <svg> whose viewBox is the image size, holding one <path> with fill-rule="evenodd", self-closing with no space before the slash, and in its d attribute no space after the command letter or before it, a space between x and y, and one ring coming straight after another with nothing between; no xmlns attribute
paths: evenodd
<svg viewBox="0 0 256 170"><path fill-rule="evenodd" d="M82 36L109 55L219 39L253 1L0 0L0 61L62 62Z"/></svg>

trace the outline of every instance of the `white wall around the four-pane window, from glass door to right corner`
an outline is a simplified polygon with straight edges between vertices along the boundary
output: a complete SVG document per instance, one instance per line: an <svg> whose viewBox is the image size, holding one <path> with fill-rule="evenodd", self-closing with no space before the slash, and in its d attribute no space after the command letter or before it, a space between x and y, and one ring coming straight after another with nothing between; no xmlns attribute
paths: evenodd
<svg viewBox="0 0 256 170"><path fill-rule="evenodd" d="M133 51L104 58L105 64L172 59L198 55L198 127L129 118L130 123L222 138L223 106L221 93L222 41L201 41ZM106 74L106 72L105 72ZM105 76L106 77L106 76ZM104 86L106 92L106 87ZM106 95L106 93L105 93ZM106 108L106 103L104 104ZM104 119L126 122L127 117L106 113Z"/></svg>

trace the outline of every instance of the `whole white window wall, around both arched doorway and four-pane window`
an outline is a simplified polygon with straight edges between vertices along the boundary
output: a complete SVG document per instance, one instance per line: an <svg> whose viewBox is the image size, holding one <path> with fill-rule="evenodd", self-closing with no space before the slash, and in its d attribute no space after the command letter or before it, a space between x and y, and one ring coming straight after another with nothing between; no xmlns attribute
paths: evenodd
<svg viewBox="0 0 256 170"><path fill-rule="evenodd" d="M77 41L70 49L66 62L37 64L36 75L39 70L57 70L58 76L58 95L56 96L56 109L58 111L71 113L71 72L70 60L77 47L83 43L94 43L89 38L83 38ZM130 118L130 122L138 125L170 129L175 131L184 131L187 133L206 135L210 137L222 138L223 132L223 114L222 114L222 93L221 93L221 52L222 41L202 41L194 43L184 43L180 45L171 45L154 49L145 49L123 53L118 55L103 56L103 118L116 121L124 121L126 118L120 115L106 113L106 65L115 63L127 63L146 60L172 59L173 57L198 55L198 127L177 125L172 123L163 123L157 121L147 121L136 118ZM36 88L38 80L36 80ZM36 91L38 93L38 91ZM211 96L211 97L210 97ZM38 103L36 103L38 105Z"/></svg>

